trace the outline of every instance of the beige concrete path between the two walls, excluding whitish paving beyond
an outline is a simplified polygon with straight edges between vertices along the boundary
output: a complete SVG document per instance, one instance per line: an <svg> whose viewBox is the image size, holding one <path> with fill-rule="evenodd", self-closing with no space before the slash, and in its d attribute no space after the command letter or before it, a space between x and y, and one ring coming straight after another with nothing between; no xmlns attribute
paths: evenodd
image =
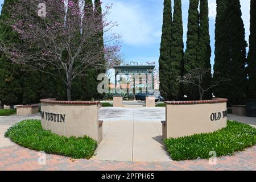
<svg viewBox="0 0 256 182"><path fill-rule="evenodd" d="M105 122L104 137L93 159L129 162L167 162L162 126L155 122Z"/></svg>

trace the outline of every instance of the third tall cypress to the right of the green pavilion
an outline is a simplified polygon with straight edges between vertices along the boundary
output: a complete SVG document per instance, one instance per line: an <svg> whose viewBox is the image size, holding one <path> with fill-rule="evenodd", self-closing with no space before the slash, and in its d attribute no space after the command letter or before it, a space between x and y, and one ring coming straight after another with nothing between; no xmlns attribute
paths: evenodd
<svg viewBox="0 0 256 182"><path fill-rule="evenodd" d="M184 71L188 73L191 69L200 68L198 60L198 43L199 43L199 0L190 0L188 10L188 32L187 48L184 53ZM198 88L195 86L185 86L184 93L189 100L199 99Z"/></svg>

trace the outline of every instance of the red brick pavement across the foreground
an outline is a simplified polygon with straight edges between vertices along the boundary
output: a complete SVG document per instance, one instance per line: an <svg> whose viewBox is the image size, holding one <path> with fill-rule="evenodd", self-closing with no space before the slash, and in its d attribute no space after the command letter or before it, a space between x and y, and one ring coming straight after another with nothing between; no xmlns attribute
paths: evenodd
<svg viewBox="0 0 256 182"><path fill-rule="evenodd" d="M0 170L256 170L256 146L234 156L217 158L212 166L208 160L182 162L114 162L74 160L64 156L46 155L46 165L38 163L39 152L16 144L0 148Z"/></svg>

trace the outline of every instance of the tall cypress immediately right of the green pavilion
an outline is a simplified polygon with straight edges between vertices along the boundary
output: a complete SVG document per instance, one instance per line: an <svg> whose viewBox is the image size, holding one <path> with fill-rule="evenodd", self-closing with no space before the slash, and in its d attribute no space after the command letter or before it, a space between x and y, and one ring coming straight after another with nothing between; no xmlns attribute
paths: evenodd
<svg viewBox="0 0 256 182"><path fill-rule="evenodd" d="M172 9L171 0L164 0L162 38L159 57L159 90L164 98L170 99Z"/></svg>

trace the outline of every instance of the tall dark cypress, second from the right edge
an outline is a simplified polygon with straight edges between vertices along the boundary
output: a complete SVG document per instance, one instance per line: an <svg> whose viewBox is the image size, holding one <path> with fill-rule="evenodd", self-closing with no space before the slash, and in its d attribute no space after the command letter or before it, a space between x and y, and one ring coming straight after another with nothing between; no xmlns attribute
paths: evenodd
<svg viewBox="0 0 256 182"><path fill-rule="evenodd" d="M228 0L229 18L229 54L231 62L230 93L232 105L242 104L246 97L246 47L245 28L242 20L241 5L239 0Z"/></svg>

